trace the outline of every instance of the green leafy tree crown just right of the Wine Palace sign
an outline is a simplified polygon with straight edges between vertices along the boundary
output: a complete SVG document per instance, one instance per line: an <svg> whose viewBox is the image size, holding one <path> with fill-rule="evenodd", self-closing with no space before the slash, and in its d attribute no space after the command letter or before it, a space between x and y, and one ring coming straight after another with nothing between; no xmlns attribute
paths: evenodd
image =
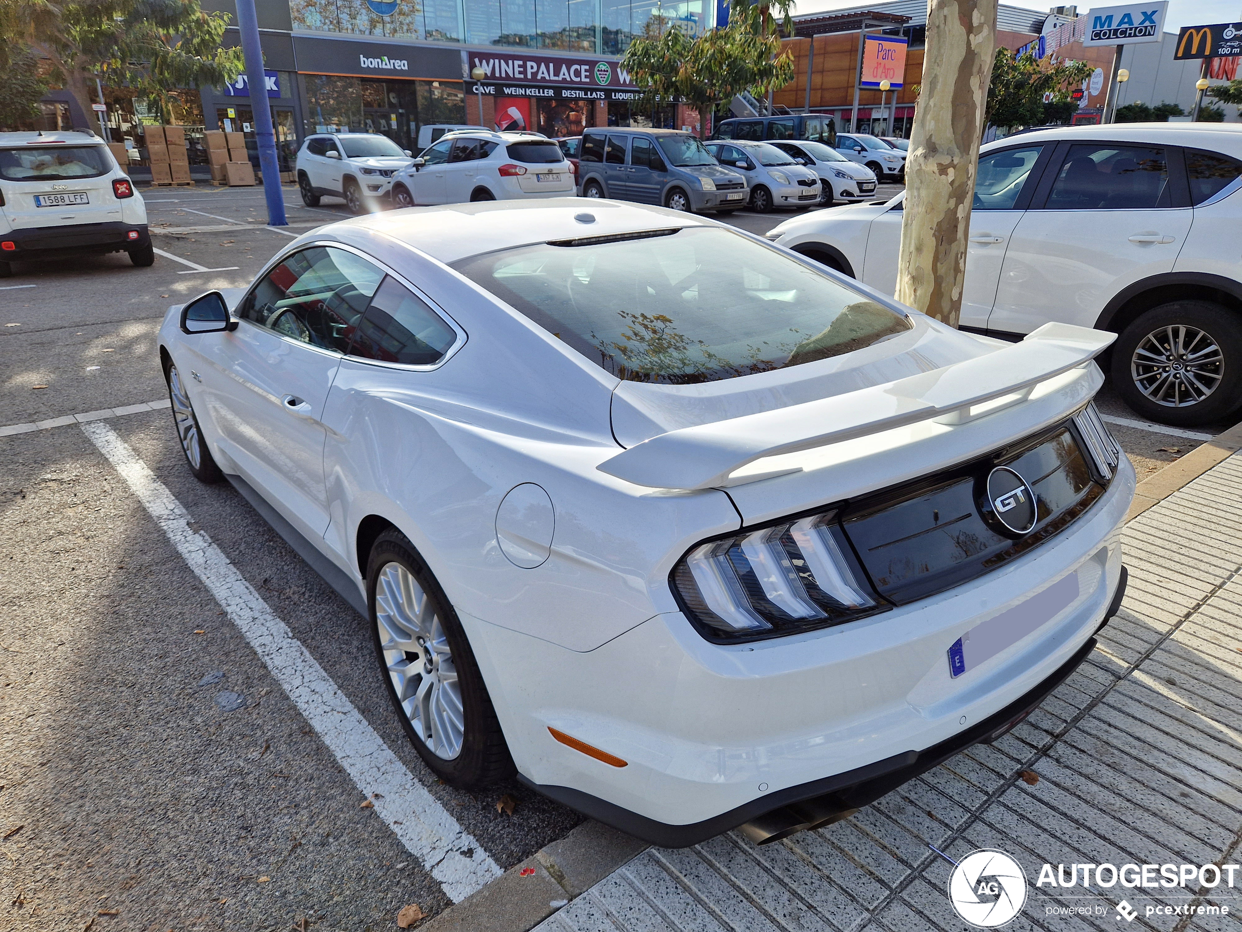
<svg viewBox="0 0 1242 932"><path fill-rule="evenodd" d="M703 118L743 91L764 96L794 80L794 60L781 52L780 36L760 31L755 19L730 21L698 39L676 29L655 37L636 39L621 67L650 98L684 98Z"/></svg>

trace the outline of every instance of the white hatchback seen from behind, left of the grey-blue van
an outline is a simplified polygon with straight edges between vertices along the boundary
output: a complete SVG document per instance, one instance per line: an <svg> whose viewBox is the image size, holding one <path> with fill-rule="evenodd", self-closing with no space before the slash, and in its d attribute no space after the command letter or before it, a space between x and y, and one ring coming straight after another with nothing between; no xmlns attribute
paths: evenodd
<svg viewBox="0 0 1242 932"><path fill-rule="evenodd" d="M532 133L446 133L392 180L399 208L478 200L565 198L574 165L554 140Z"/></svg>

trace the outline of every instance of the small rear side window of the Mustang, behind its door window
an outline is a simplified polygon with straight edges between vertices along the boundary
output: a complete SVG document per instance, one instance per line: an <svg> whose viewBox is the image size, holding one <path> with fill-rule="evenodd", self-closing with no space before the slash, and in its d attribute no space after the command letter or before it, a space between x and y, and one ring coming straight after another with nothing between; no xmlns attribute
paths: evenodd
<svg viewBox="0 0 1242 932"><path fill-rule="evenodd" d="M350 355L384 363L431 365L457 340L457 332L425 301L388 277L353 333Z"/></svg>

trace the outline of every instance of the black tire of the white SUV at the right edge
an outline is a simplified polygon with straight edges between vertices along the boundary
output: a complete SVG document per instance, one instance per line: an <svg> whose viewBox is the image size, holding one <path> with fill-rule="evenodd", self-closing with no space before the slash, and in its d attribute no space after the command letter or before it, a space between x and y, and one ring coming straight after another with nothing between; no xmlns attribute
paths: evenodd
<svg viewBox="0 0 1242 932"><path fill-rule="evenodd" d="M1176 339L1187 352L1176 352ZM1213 344L1216 354L1207 349ZM1187 357L1195 368L1179 372ZM1113 344L1112 374L1122 400L1148 420L1190 427L1226 419L1242 405L1242 319L1210 301L1154 307Z"/></svg>

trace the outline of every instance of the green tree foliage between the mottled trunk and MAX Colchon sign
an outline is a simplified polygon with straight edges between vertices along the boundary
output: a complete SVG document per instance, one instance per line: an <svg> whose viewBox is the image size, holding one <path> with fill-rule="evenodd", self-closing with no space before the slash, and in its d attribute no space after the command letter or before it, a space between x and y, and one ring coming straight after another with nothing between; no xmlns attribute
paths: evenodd
<svg viewBox="0 0 1242 932"><path fill-rule="evenodd" d="M1043 96L1052 93L1058 104L1052 116L1073 116L1077 104L1069 97L1074 86L1090 77L1094 68L1087 62L1054 62L1052 56L1036 58L1031 52L1015 57L1009 48L997 48L992 62L992 80L987 86L987 108L984 123L997 127L1031 127L1047 122ZM1067 108L1064 104L1069 104ZM1066 116L1059 122L1068 119ZM1057 121L1051 121L1057 122Z"/></svg>

